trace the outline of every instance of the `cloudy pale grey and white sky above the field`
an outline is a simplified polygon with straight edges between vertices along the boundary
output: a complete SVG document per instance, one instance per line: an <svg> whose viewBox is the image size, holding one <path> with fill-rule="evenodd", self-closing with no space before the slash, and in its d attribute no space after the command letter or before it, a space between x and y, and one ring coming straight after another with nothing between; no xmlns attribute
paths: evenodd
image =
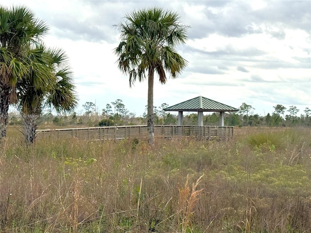
<svg viewBox="0 0 311 233"><path fill-rule="evenodd" d="M82 105L120 99L136 116L145 112L147 81L129 87L113 50L120 33L113 25L149 7L172 10L190 26L178 53L188 66L164 85L155 77L154 106L203 96L239 108L252 105L265 116L282 104L311 108L310 0L0 0L25 5L50 27L44 42L69 57ZM172 112L175 114L176 112ZM287 113L288 114L288 113Z"/></svg>

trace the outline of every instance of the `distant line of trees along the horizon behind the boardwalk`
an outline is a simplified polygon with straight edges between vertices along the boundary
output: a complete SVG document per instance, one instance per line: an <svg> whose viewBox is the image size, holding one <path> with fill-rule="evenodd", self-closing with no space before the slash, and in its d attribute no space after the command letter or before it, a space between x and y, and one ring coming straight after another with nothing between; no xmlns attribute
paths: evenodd
<svg viewBox="0 0 311 233"><path fill-rule="evenodd" d="M154 106L155 125L176 125L177 116L164 111L169 105L162 103L159 107ZM147 106L142 116L136 116L130 112L122 100L118 99L107 103L101 112L93 102L83 104L83 110L73 112L69 116L53 116L48 112L41 117L45 123L53 123L55 126L116 126L116 125L146 125L147 124ZM298 108L290 106L289 109L281 104L274 106L273 113L267 113L265 116L254 114L254 108L246 103L242 103L240 111L237 113L225 114L225 125L228 126L271 126L271 127L292 127L292 126L311 126L311 109L305 108L304 114L298 116ZM12 115L14 116L14 115ZM219 113L205 115L204 125L219 125ZM16 117L10 117L9 124L17 124ZM189 113L183 117L183 125L197 125L197 113Z"/></svg>

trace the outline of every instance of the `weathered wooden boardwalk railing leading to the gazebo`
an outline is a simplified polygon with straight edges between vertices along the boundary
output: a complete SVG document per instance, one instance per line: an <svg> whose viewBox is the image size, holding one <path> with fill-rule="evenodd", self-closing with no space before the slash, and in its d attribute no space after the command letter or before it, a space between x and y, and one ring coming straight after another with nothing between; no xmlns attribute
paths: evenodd
<svg viewBox="0 0 311 233"><path fill-rule="evenodd" d="M193 136L206 140L233 138L232 126L176 126L155 125L155 137ZM84 140L119 140L124 138L148 138L146 125L109 126L38 130L37 137L74 137Z"/></svg>

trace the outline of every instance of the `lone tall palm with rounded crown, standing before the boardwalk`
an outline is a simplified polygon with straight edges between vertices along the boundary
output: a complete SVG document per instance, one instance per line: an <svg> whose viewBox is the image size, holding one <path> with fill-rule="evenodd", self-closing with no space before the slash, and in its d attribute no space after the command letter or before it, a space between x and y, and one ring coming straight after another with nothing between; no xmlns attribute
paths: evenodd
<svg viewBox="0 0 311 233"><path fill-rule="evenodd" d="M174 79L186 67L187 61L175 48L185 44L188 26L181 24L176 13L157 7L134 11L124 18L116 25L121 42L114 52L119 56L119 69L129 74L130 87L137 79L142 82L148 72L148 139L149 145L154 145L154 74L164 84L166 71Z"/></svg>

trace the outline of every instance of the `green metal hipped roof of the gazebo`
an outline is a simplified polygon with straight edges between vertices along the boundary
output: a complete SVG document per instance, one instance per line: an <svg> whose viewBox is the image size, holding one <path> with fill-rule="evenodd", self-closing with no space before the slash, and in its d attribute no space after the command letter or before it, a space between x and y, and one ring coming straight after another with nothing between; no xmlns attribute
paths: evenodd
<svg viewBox="0 0 311 233"><path fill-rule="evenodd" d="M199 96L163 109L164 111L186 112L237 112L239 109Z"/></svg>

